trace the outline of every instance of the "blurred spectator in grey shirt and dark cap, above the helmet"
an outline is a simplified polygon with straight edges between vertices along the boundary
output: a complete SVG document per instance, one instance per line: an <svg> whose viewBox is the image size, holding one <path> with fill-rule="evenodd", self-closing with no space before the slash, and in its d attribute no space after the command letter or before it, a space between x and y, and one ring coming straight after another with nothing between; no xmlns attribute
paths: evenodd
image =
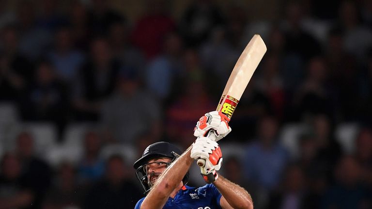
<svg viewBox="0 0 372 209"><path fill-rule="evenodd" d="M132 144L144 132L159 137L162 127L160 106L156 98L141 89L136 69L122 69L116 85L115 92L102 106L103 128L113 133L114 141L125 144Z"/></svg>

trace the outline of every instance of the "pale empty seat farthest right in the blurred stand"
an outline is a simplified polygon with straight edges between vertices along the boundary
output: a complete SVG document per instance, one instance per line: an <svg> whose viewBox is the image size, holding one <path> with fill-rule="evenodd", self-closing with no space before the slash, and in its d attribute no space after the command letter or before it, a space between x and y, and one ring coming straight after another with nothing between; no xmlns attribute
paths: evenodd
<svg viewBox="0 0 372 209"><path fill-rule="evenodd" d="M355 149L356 136L359 127L356 123L341 123L335 130L335 138L340 143L344 153L352 154Z"/></svg>

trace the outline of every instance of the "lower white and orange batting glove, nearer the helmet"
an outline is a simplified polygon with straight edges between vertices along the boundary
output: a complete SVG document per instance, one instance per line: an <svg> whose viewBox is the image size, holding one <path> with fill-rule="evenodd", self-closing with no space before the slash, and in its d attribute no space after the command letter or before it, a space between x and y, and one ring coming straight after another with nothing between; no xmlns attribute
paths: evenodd
<svg viewBox="0 0 372 209"><path fill-rule="evenodd" d="M207 183L212 183L218 178L216 171L222 165L222 152L217 142L208 137L198 137L192 144L190 157L195 160L205 160L205 165L201 167L201 172L203 179Z"/></svg>

